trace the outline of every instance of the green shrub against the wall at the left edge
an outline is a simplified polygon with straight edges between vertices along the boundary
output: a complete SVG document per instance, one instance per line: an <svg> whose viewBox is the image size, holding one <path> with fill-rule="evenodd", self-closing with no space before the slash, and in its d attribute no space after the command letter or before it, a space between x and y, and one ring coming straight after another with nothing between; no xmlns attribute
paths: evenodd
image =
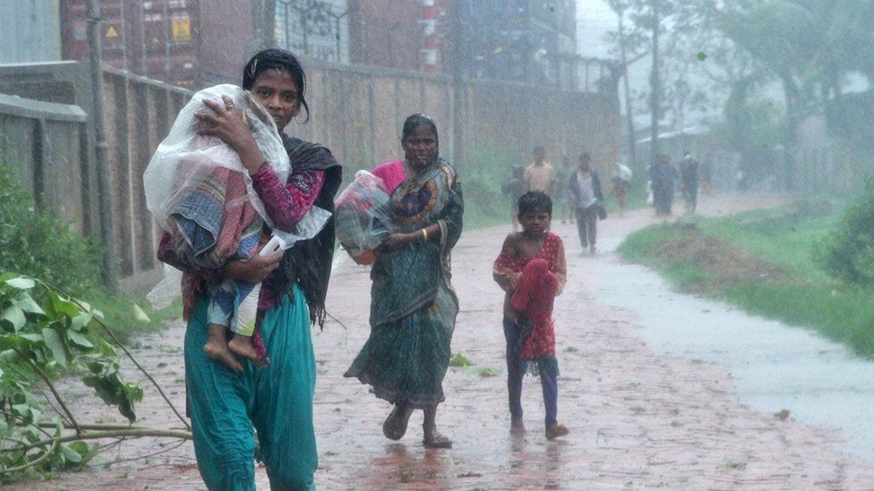
<svg viewBox="0 0 874 491"><path fill-rule="evenodd" d="M101 284L102 248L36 206L0 159L0 272L43 278L75 295Z"/></svg>

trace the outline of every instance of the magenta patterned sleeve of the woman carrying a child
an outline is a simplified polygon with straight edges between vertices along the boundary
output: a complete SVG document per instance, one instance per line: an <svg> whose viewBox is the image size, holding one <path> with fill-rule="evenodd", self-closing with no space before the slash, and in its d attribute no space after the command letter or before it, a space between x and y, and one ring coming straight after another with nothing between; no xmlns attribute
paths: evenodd
<svg viewBox="0 0 874 491"><path fill-rule="evenodd" d="M313 207L324 177L325 172L321 170L293 171L288 181L282 183L265 163L252 174L252 181L273 224L279 230L290 231Z"/></svg>

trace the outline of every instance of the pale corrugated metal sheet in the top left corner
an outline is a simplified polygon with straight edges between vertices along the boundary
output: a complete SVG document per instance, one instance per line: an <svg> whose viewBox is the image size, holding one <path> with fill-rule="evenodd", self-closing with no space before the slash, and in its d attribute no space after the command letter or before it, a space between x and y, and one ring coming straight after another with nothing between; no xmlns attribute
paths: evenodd
<svg viewBox="0 0 874 491"><path fill-rule="evenodd" d="M61 60L60 0L0 0L0 63Z"/></svg>

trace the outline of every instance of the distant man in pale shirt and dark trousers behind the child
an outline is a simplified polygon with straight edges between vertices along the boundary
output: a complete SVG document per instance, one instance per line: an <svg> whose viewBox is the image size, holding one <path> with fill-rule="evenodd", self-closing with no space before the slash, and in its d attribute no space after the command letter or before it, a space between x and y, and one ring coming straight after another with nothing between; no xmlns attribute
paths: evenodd
<svg viewBox="0 0 874 491"><path fill-rule="evenodd" d="M592 157L584 153L579 156L577 172L570 175L568 182L570 202L577 213L577 231L579 243L585 252L592 254L597 251L598 215L603 214L604 195L601 193L601 180L598 173L592 169Z"/></svg>

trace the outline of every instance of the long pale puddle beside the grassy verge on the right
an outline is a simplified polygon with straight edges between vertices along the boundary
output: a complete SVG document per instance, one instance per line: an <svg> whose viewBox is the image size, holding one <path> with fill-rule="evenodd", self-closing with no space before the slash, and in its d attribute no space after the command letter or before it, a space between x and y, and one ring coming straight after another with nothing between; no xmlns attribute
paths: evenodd
<svg viewBox="0 0 874 491"><path fill-rule="evenodd" d="M804 329L672 292L655 273L620 264L613 254L576 267L587 270L596 301L638 318L650 349L719 363L731 371L741 402L840 429L844 450L874 461L874 362Z"/></svg>

